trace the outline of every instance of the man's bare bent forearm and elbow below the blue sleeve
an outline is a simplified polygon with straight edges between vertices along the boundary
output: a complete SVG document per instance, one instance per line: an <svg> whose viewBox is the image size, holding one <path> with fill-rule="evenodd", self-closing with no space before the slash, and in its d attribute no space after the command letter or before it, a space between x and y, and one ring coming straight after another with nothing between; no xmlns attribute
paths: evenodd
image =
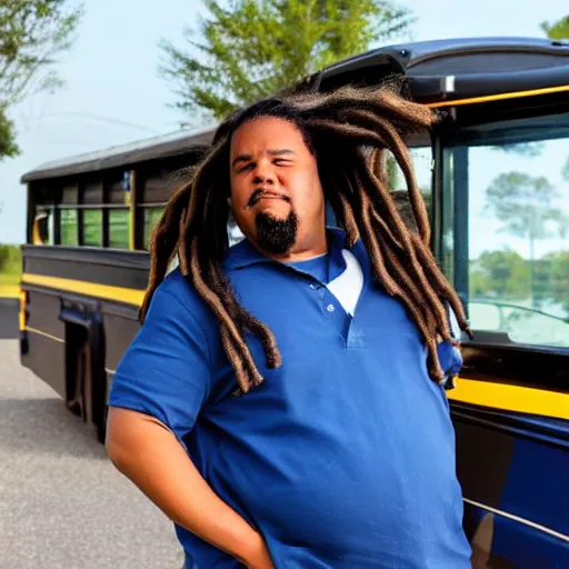
<svg viewBox="0 0 569 569"><path fill-rule="evenodd" d="M172 521L251 569L273 568L260 533L211 490L158 419L110 407L106 448L117 469Z"/></svg>

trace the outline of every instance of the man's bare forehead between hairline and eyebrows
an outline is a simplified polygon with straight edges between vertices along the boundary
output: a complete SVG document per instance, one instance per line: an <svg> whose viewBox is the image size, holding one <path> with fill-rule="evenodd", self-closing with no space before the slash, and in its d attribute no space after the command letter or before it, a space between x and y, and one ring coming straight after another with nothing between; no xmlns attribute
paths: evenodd
<svg viewBox="0 0 569 569"><path fill-rule="evenodd" d="M298 128L292 122L277 117L250 120L241 124L231 138L231 156L274 148L308 151Z"/></svg>

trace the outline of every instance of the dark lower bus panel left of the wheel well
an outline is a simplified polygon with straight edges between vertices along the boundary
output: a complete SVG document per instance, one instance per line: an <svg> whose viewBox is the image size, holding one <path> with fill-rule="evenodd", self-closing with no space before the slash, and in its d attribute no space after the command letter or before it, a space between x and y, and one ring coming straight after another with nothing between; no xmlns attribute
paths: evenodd
<svg viewBox="0 0 569 569"><path fill-rule="evenodd" d="M66 328L59 312L57 296L28 290L28 349L21 353L21 363L64 398Z"/></svg>

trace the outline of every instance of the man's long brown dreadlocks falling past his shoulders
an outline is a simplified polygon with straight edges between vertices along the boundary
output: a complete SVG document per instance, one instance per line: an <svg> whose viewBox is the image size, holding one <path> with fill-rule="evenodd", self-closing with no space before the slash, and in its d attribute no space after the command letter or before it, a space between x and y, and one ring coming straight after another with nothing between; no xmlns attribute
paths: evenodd
<svg viewBox="0 0 569 569"><path fill-rule="evenodd" d="M299 129L317 157L326 198L346 231L347 246L362 239L376 282L405 305L427 345L429 375L441 380L445 373L437 345L441 340L457 345L449 329L447 303L461 329L470 331L462 305L430 251L427 210L402 140L403 132L428 129L437 117L386 88L346 87L330 94L268 98L226 120L216 132L211 151L172 196L154 230L141 319L170 261L178 254L181 272L191 277L219 322L238 392L246 393L262 381L246 343L247 335L260 340L268 368L280 366L273 333L239 305L223 273L231 138L241 124L260 117L282 118ZM413 231L389 191L386 151L392 153L403 172Z"/></svg>

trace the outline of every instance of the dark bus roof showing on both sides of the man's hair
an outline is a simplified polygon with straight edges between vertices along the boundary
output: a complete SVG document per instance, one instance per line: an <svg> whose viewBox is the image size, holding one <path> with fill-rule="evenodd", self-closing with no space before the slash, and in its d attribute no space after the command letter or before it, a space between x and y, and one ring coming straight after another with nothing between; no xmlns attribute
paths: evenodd
<svg viewBox="0 0 569 569"><path fill-rule="evenodd" d="M378 48L319 71L292 87L328 91L347 83L378 84L408 78L419 102L440 102L568 86L569 40L467 38ZM71 176L181 154L209 144L213 128L179 131L42 164L23 182Z"/></svg>

